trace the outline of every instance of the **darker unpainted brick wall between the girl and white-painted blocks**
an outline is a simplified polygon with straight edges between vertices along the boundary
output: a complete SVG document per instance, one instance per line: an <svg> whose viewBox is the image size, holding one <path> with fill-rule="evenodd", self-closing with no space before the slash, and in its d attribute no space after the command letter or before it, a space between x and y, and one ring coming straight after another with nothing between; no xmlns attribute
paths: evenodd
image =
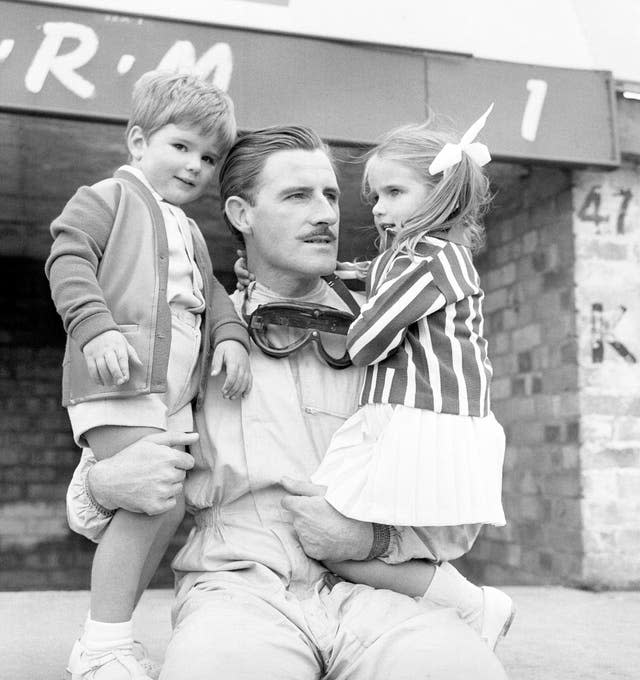
<svg viewBox="0 0 640 680"><path fill-rule="evenodd" d="M486 527L462 567L485 583L573 583L583 545L571 173L522 167L501 187L476 262L508 524Z"/></svg>

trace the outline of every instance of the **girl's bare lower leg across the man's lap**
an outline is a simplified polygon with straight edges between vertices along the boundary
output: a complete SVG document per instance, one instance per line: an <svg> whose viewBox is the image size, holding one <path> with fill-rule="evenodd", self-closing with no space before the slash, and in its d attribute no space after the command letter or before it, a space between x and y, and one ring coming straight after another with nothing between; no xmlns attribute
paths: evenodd
<svg viewBox="0 0 640 680"><path fill-rule="evenodd" d="M435 565L427 560L410 560L402 564L385 564L380 560L367 562L324 562L334 574L352 583L364 583L372 588L421 597L427 591Z"/></svg>

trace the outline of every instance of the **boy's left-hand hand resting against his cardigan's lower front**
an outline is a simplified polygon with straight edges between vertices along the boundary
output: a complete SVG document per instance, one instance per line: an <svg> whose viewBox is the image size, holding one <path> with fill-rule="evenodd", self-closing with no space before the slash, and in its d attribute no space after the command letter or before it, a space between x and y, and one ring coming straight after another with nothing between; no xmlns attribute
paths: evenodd
<svg viewBox="0 0 640 680"><path fill-rule="evenodd" d="M98 385L124 385L129 381L129 361L142 362L120 331L100 333L82 348L91 379Z"/></svg>

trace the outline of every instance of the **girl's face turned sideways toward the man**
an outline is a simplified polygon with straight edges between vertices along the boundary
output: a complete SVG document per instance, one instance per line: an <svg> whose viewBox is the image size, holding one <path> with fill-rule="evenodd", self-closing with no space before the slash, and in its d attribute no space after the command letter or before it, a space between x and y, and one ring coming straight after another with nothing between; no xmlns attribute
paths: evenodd
<svg viewBox="0 0 640 680"><path fill-rule="evenodd" d="M397 232L424 205L433 187L409 165L374 156L367 168L373 221L384 238L387 230Z"/></svg>

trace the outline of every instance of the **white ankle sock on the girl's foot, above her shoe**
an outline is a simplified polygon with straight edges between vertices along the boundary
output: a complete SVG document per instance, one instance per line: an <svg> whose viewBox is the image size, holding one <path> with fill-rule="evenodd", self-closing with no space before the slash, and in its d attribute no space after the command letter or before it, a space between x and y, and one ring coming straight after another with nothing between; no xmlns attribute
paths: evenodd
<svg viewBox="0 0 640 680"><path fill-rule="evenodd" d="M423 598L443 607L453 607L460 618L473 627L482 624L484 603L482 589L471 581L467 581L448 562L443 562L436 567L433 579Z"/></svg>

